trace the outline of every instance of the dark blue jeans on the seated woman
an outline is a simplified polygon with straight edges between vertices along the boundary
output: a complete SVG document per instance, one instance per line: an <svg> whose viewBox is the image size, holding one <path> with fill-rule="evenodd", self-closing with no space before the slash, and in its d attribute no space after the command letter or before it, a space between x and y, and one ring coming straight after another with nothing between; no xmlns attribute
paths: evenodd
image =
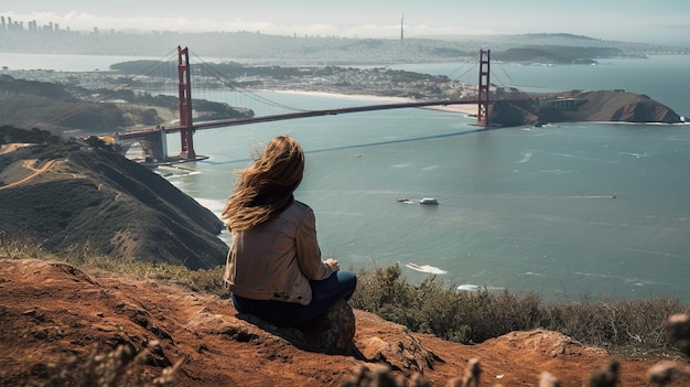
<svg viewBox="0 0 690 387"><path fill-rule="evenodd" d="M349 300L357 287L352 271L338 270L321 281L310 281L312 301L308 305L276 300L251 300L233 294L233 304L240 313L259 316L276 325L297 326L324 314L338 299Z"/></svg>

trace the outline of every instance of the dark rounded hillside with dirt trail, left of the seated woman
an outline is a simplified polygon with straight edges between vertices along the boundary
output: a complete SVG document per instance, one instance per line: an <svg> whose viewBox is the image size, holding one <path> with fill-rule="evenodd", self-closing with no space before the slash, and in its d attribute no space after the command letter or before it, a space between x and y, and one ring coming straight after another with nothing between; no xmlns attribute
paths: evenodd
<svg viewBox="0 0 690 387"><path fill-rule="evenodd" d="M225 264L223 223L151 170L114 152L0 128L0 232L51 251L88 245L114 259L191 269ZM31 132L29 132L31 133ZM40 131L37 132L40 133ZM37 135L36 135L37 136Z"/></svg>

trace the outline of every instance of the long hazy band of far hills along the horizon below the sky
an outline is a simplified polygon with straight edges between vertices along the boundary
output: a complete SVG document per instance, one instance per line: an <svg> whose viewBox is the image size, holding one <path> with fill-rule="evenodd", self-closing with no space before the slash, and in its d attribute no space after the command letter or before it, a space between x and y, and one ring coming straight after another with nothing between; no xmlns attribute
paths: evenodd
<svg viewBox="0 0 690 387"><path fill-rule="evenodd" d="M7 36L3 36L7 35ZM259 32L179 33L0 33L0 52L161 57L179 45L201 57L262 64L438 63L475 57L479 49L500 54L509 49L561 46L604 49L615 56L689 54L688 47L604 41L565 33L453 35L441 37L351 39L314 35L269 35ZM500 56L500 55L499 55ZM596 58L596 57L584 57ZM535 62L535 58L528 58ZM0 58L0 66L2 60ZM48 67L50 68L50 67Z"/></svg>

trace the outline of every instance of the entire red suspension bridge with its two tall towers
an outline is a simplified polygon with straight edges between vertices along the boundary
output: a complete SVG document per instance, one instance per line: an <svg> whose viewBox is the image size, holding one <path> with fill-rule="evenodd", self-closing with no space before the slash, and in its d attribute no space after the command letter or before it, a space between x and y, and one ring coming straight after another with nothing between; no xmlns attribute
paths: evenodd
<svg viewBox="0 0 690 387"><path fill-rule="evenodd" d="M145 160L154 161L157 163L166 162L185 162L202 160L206 157L198 155L194 149L194 133L197 130L233 127L238 125L248 125L267 121L278 121L297 118L319 117L328 115L342 115L349 112L362 112L373 110L385 109L400 109L400 108L421 108L431 106L450 106L450 105L476 105L476 125L481 127L490 126L489 122L489 107L497 100L524 100L525 94L518 90L517 96L513 94L504 94L500 98L493 98L490 95L490 51L479 51L479 71L478 71L478 85L476 94L471 97L460 99L436 99L436 100L416 100L391 104L376 104L354 107L331 108L321 110L300 110L287 114L271 114L258 117L244 117L244 118L227 118L216 120L201 120L194 122L192 99L192 68L190 65L190 51L187 47L177 47L177 64L176 64L176 83L177 83L177 114L179 123L169 126L155 126L154 128L116 131L107 136L111 136L117 148L125 154L127 150L138 143L143 149ZM128 87L129 85L118 85L114 89ZM230 88L236 88L237 84L229 84ZM265 99L265 98L262 98ZM265 101L268 101L265 99ZM271 103L271 101L268 101ZM86 104L88 105L88 104ZM78 110L78 109L77 109ZM78 111L77 111L78 112ZM74 111L69 114L76 114ZM57 119L64 119L68 114L58 117ZM54 121L56 121L55 119ZM168 154L166 135L180 133L181 151L177 155Z"/></svg>

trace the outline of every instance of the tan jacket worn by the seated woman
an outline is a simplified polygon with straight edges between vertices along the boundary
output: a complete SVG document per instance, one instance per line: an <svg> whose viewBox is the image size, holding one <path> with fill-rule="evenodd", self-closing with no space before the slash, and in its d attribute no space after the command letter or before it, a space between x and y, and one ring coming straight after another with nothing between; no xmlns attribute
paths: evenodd
<svg viewBox="0 0 690 387"><path fill-rule="evenodd" d="M309 280L332 273L321 260L314 212L294 201L276 218L233 232L224 279L239 297L306 305L312 301Z"/></svg>

